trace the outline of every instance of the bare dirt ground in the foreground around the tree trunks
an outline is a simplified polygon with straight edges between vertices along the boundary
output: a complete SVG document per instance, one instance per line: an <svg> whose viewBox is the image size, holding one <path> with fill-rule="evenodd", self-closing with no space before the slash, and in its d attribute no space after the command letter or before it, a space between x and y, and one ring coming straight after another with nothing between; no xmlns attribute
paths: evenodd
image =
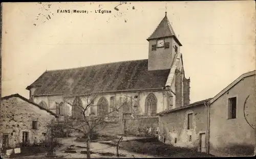
<svg viewBox="0 0 256 159"><path fill-rule="evenodd" d="M103 137L104 138L104 137ZM99 139L105 140L105 139ZM109 142L91 142L92 158L117 158L116 138ZM56 151L59 158L86 158L86 142L78 142L75 137L64 138L63 146ZM109 139L106 137L106 139ZM159 142L157 139L127 137L120 143L119 155L124 158L146 158L146 157L212 157L213 155L193 151L187 148L174 147ZM46 158L46 154L35 154L20 158Z"/></svg>

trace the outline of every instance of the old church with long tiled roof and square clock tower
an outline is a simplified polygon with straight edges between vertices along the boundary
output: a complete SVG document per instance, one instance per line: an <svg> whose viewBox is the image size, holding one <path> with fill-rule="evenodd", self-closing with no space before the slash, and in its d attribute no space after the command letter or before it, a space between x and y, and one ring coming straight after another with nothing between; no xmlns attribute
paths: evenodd
<svg viewBox="0 0 256 159"><path fill-rule="evenodd" d="M182 44L166 12L146 40L145 60L45 71L26 88L30 100L63 117L81 115L72 105L84 107L91 94L98 107L91 107L87 115L111 112L119 103L125 105L119 114L158 118L160 112L188 105L190 78L185 77Z"/></svg>

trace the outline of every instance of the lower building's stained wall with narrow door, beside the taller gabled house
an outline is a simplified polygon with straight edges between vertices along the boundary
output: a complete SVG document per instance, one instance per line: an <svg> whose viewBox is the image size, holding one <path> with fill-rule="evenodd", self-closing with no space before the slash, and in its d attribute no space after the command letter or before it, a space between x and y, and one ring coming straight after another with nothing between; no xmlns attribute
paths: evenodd
<svg viewBox="0 0 256 159"><path fill-rule="evenodd" d="M207 148L207 112L209 99L159 113L159 140L200 152Z"/></svg>

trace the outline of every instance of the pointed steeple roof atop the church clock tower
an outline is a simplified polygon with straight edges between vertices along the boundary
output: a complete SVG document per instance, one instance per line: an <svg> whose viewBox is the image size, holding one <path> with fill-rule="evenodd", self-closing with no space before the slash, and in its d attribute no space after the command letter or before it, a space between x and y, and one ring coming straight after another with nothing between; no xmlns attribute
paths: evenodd
<svg viewBox="0 0 256 159"><path fill-rule="evenodd" d="M167 18L166 12L165 12L165 16L162 19L162 21L158 24L156 30L146 40L148 41L151 39L157 39L157 38L161 38L161 37L170 37L170 36L173 36L175 38L175 40L179 43L179 45L182 46L174 32L172 25L170 25L170 22Z"/></svg>

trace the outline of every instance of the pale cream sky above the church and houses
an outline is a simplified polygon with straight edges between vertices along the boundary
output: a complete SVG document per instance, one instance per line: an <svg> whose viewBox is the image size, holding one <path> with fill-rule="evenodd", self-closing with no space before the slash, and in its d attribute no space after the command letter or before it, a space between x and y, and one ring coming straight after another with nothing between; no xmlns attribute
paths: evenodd
<svg viewBox="0 0 256 159"><path fill-rule="evenodd" d="M147 38L167 11L190 102L214 97L255 70L254 1L2 3L2 97L46 70L148 58ZM166 8L166 9L165 9ZM58 13L57 10L88 13ZM95 10L111 13L95 13Z"/></svg>

